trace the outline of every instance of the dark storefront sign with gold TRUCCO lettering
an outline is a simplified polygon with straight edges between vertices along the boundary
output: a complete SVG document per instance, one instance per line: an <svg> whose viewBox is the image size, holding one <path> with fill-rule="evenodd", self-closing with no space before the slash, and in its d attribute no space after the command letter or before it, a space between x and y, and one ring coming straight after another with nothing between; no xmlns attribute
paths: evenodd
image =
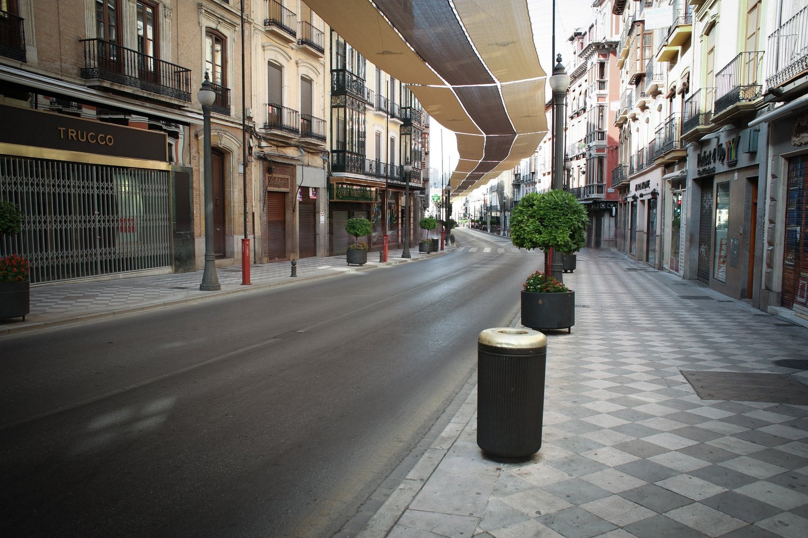
<svg viewBox="0 0 808 538"><path fill-rule="evenodd" d="M123 127L64 114L0 105L0 143L129 159L168 161L164 132Z"/></svg>

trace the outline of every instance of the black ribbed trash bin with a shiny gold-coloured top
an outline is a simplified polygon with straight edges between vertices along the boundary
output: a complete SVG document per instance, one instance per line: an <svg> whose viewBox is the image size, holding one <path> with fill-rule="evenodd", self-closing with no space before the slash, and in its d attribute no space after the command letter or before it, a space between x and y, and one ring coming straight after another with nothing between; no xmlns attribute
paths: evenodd
<svg viewBox="0 0 808 538"><path fill-rule="evenodd" d="M478 336L477 444L495 457L528 457L541 448L547 337L497 327Z"/></svg>

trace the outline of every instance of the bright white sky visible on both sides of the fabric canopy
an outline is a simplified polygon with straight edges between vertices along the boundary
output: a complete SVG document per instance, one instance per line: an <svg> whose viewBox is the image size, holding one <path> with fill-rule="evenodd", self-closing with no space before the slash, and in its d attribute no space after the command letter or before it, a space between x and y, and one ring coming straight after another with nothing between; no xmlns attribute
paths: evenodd
<svg viewBox="0 0 808 538"><path fill-rule="evenodd" d="M518 1L518 0L517 0ZM542 69L553 71L553 0L527 0L528 12L533 24L533 40L539 55ZM592 0L557 0L556 4L556 52L562 53L562 63L569 65L566 58L567 39L575 28L587 26L591 19ZM442 132L445 131L445 132ZM443 138L443 151L441 151ZM457 145L452 131L444 130L434 120L430 127L430 165L448 177L457 164Z"/></svg>

